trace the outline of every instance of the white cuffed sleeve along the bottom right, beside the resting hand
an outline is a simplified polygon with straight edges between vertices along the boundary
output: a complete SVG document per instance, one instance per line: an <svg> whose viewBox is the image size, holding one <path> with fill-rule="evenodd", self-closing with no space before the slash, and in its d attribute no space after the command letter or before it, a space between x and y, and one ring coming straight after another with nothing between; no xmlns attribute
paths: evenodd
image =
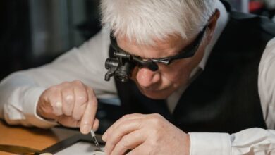
<svg viewBox="0 0 275 155"><path fill-rule="evenodd" d="M275 130L250 128L227 133L190 132L190 155L275 154Z"/></svg>

